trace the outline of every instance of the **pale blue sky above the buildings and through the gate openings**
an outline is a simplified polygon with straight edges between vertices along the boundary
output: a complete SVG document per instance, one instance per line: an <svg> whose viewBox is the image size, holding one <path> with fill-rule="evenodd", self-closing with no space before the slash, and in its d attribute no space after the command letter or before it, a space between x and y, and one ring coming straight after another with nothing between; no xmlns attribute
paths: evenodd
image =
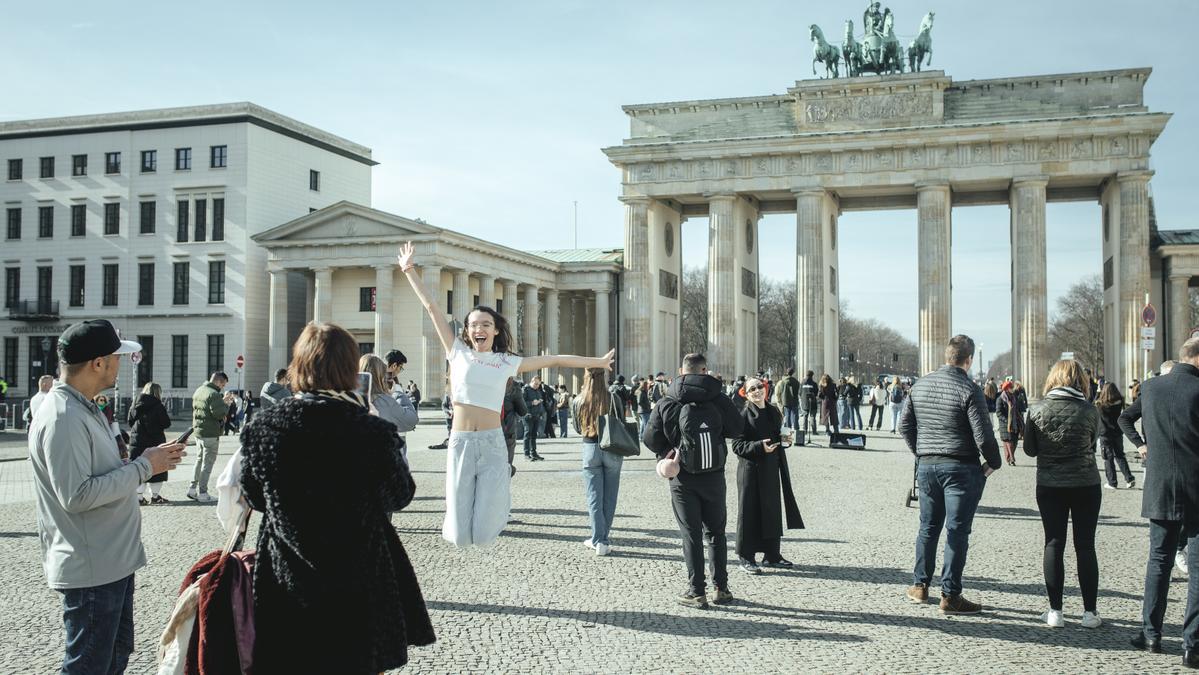
<svg viewBox="0 0 1199 675"><path fill-rule="evenodd" d="M620 175L602 147L622 104L783 94L812 77L806 28L837 35L866 2L6 4L0 120L252 101L372 147L373 206L522 248L620 247ZM1199 147L1189 0L884 2L904 42L936 12L932 68L956 80L1153 68L1145 100L1174 117L1152 149L1163 229ZM1008 212L953 210L953 331L1008 348ZM1048 295L1101 271L1096 204L1050 204ZM795 278L795 218L761 221L763 273ZM682 230L706 258L706 221ZM845 213L842 297L915 339L916 213Z"/></svg>

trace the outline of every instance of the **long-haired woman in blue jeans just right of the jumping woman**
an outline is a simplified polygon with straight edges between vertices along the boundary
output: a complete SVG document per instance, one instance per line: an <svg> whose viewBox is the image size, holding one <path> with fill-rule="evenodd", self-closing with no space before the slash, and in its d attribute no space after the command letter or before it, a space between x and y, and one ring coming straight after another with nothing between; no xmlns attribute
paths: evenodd
<svg viewBox="0 0 1199 675"><path fill-rule="evenodd" d="M620 469L625 458L602 450L604 415L611 411L613 399L604 381L607 370L588 368L583 372L583 390L571 402L574 433L583 436L583 484L588 490L588 516L591 537L584 546L596 549L596 555L608 555L611 542L611 520L616 517L616 495L620 493Z"/></svg>

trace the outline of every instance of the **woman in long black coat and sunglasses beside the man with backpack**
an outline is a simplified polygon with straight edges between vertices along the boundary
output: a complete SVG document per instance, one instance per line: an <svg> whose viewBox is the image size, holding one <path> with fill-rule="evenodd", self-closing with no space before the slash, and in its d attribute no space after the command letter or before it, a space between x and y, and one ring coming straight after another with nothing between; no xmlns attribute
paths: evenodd
<svg viewBox="0 0 1199 675"><path fill-rule="evenodd" d="M791 493L791 476L783 450L783 415L766 403L763 381L746 381L746 406L741 410L745 430L733 440L737 456L737 541L736 552L741 568L760 574L757 556L764 554L766 567L791 567L783 558L779 542L783 537L783 507L787 528L802 530L803 518Z"/></svg>

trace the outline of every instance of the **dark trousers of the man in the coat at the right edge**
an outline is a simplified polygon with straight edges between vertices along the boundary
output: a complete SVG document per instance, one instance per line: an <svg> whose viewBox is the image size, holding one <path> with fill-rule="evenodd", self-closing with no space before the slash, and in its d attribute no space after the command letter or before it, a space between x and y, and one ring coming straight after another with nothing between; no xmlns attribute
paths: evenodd
<svg viewBox="0 0 1199 675"><path fill-rule="evenodd" d="M1179 540L1187 542L1187 609L1182 615L1182 646L1199 647L1199 541L1197 528L1183 530L1181 520L1149 522L1149 565L1145 566L1145 603L1141 607L1141 631L1150 640L1162 639L1165 596L1170 591L1170 571Z"/></svg>

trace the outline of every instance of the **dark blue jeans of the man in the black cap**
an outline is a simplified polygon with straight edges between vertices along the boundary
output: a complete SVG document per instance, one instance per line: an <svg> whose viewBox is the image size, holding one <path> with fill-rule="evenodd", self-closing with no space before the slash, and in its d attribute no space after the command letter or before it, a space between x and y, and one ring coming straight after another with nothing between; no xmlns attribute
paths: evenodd
<svg viewBox="0 0 1199 675"><path fill-rule="evenodd" d="M133 653L133 574L62 593L62 673L125 673Z"/></svg>

